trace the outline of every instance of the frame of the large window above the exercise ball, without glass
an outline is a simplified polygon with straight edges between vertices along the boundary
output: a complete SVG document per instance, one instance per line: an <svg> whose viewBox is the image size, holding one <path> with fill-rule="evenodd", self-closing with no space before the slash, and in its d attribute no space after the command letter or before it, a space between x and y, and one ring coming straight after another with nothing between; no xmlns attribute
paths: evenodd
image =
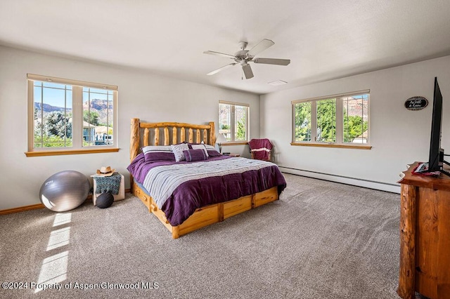
<svg viewBox="0 0 450 299"><path fill-rule="evenodd" d="M34 147L34 81L48 81L56 84L72 86L72 146L71 147ZM113 144L112 145L83 145L83 88L108 89L113 91ZM57 77L27 74L28 98L28 151L27 157L51 156L60 154L88 154L97 152L118 152L117 147L117 86L96 84L86 81L62 79Z"/></svg>

